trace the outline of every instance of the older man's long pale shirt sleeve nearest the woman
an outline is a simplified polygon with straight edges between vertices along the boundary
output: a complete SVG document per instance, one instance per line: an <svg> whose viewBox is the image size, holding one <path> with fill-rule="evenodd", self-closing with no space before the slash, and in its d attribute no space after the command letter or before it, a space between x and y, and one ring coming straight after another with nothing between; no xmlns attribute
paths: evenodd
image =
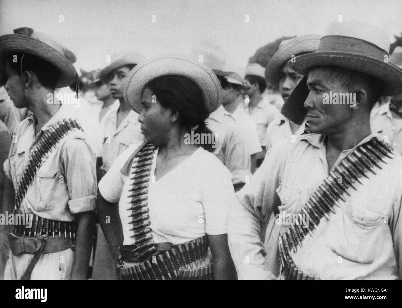
<svg viewBox="0 0 402 308"><path fill-rule="evenodd" d="M280 158L281 151L273 151L230 206L228 240L239 279L276 279L264 265L262 237L273 206L279 202Z"/></svg>

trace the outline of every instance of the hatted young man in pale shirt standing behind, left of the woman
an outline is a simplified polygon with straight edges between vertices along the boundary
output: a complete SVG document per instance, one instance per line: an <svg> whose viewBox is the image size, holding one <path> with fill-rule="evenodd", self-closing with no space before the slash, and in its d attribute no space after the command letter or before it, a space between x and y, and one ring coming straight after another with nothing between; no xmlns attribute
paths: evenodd
<svg viewBox="0 0 402 308"><path fill-rule="evenodd" d="M109 168L115 159L123 153L131 144L142 143L144 138L141 134L138 122L138 114L131 109L123 99L122 86L128 73L146 57L136 51L116 53L115 59L102 71L99 79L109 86L112 98L118 104L113 104L103 119L103 169ZM95 280L118 280L119 273L114 266L112 255L107 247L105 235L98 228L96 252L94 260L93 278Z"/></svg>

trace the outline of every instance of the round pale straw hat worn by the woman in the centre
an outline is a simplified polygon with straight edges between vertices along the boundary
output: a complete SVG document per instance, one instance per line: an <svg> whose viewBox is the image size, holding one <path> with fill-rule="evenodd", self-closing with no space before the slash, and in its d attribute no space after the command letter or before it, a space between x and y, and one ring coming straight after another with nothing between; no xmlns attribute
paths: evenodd
<svg viewBox="0 0 402 308"><path fill-rule="evenodd" d="M181 55L153 57L134 67L123 85L123 97L137 113L142 110L142 94L147 84L165 75L189 78L201 89L205 106L209 112L215 111L221 103L221 85L207 65L197 63Z"/></svg>

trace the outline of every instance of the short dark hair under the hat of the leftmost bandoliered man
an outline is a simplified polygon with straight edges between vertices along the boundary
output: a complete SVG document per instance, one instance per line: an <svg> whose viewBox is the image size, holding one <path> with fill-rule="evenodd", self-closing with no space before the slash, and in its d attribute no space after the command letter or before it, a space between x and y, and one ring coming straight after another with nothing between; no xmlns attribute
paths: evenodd
<svg viewBox="0 0 402 308"><path fill-rule="evenodd" d="M13 61L15 56L17 59L16 62ZM59 70L53 64L29 53L15 53L14 55L9 55L7 59L8 64L20 77L21 60L23 72L33 71L42 86L51 88L52 90L56 88L57 82L59 81Z"/></svg>

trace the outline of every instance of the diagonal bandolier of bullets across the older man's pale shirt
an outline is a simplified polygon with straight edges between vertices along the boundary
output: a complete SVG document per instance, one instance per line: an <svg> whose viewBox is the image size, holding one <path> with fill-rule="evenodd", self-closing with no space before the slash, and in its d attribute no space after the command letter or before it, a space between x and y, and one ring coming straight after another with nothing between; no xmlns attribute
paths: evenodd
<svg viewBox="0 0 402 308"><path fill-rule="evenodd" d="M393 158L390 154L395 154L392 147L374 137L347 155L324 179L298 214L299 223L291 224L291 228L287 228L285 233L279 235L279 270L285 280L320 280L314 275L307 275L300 271L291 259L291 252L297 251L297 245L302 247L301 241L307 234L313 236L312 231L318 227L323 216L330 220L328 213L331 211L335 214L334 205L340 208L338 200L345 201L343 194L351 195L348 188L357 190L355 183L363 184L360 178L363 176L369 178L368 172L376 174L373 170L374 166L382 169L380 163L387 163L384 160L385 157ZM342 179L340 182L336 180L339 176ZM312 223L304 224L303 215L308 216Z"/></svg>

